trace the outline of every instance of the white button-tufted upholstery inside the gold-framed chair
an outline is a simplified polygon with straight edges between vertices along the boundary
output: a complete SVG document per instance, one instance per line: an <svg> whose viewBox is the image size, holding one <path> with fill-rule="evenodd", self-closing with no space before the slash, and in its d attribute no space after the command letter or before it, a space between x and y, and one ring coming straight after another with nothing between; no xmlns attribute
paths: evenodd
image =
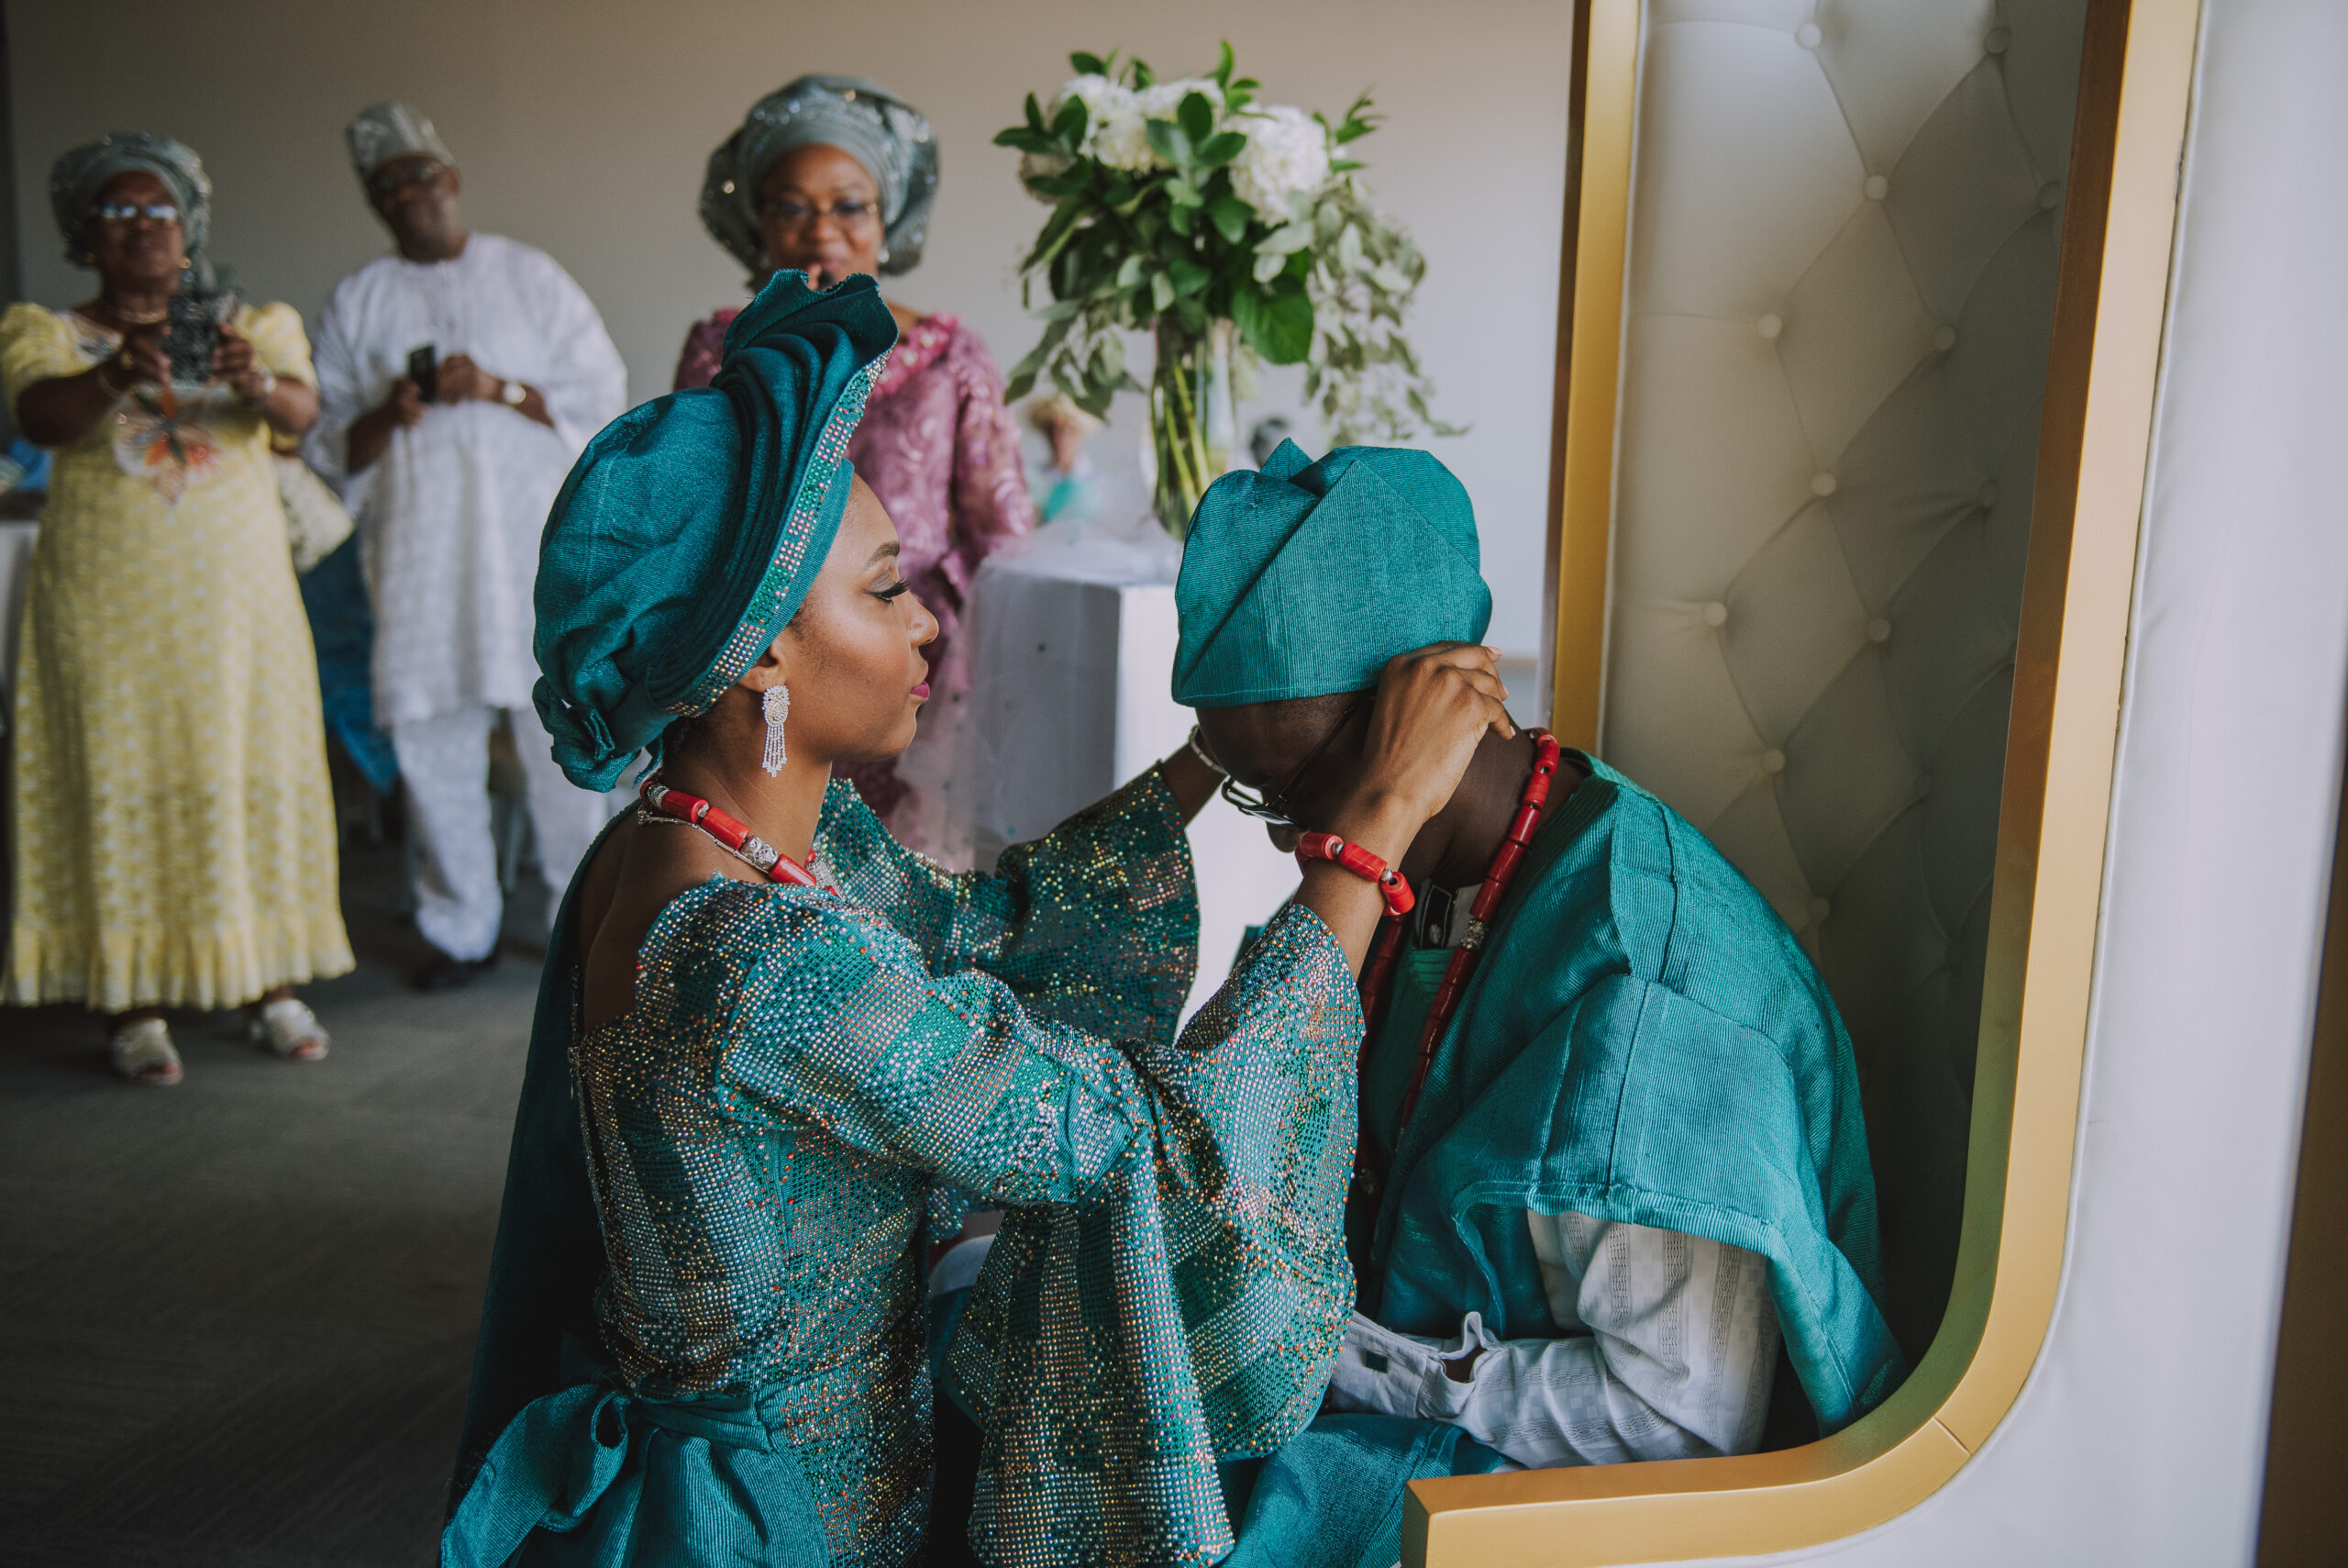
<svg viewBox="0 0 2348 1568"><path fill-rule="evenodd" d="M1860 1052L1939 1324L2085 0L1653 0L1601 749Z"/></svg>

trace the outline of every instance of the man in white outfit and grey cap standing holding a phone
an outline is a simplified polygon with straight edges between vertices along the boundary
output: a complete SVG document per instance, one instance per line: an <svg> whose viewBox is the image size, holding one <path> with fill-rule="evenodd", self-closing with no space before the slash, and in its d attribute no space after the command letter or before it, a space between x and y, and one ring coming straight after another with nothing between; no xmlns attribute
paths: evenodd
<svg viewBox="0 0 2348 1568"><path fill-rule="evenodd" d="M308 455L359 516L376 603L376 716L392 732L416 836L416 925L460 986L495 962L502 899L488 735L507 714L531 829L561 892L613 800L554 768L531 709L531 584L573 458L627 406L620 350L545 251L465 230L432 122L378 103L350 160L399 254L345 277L317 329ZM411 357L430 350L430 385Z"/></svg>

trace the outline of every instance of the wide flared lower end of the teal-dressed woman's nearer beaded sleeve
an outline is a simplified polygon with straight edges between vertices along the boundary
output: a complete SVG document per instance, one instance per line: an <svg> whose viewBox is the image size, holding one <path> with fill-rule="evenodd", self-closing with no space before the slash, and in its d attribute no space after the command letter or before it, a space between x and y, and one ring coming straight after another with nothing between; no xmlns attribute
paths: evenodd
<svg viewBox="0 0 2348 1568"><path fill-rule="evenodd" d="M1216 1462L1320 1406L1352 1307L1343 1197L1362 1009L1317 915L1282 908L1174 1047L1094 1045L1132 1138L1075 1117L1078 1204L1005 1216L946 1378L986 1448L970 1535L1012 1568L1214 1563ZM1104 1136L1101 1143L1108 1143Z"/></svg>

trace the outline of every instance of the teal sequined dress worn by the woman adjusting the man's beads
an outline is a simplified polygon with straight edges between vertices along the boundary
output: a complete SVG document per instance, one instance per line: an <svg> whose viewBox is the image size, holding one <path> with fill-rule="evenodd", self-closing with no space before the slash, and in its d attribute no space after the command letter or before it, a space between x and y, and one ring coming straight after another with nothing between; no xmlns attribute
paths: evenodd
<svg viewBox="0 0 2348 1568"><path fill-rule="evenodd" d="M989 1432L981 1552L1223 1556L1216 1460L1310 1420L1352 1305L1343 951L1282 913L1174 1040L1197 901L1155 772L998 876L904 852L845 784L817 852L838 892L711 878L634 1007L559 1030L610 1371L535 1390L444 1561L913 1561L944 1188L1010 1209L949 1364Z"/></svg>

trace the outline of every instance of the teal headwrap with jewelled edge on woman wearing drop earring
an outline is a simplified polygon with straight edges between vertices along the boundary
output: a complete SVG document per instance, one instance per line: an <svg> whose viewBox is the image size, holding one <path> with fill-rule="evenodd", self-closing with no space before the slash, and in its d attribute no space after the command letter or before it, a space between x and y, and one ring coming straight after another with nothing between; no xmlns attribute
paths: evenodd
<svg viewBox="0 0 2348 1568"><path fill-rule="evenodd" d="M895 340L873 279L817 293L777 272L726 333L716 380L622 413L580 453L538 552L531 692L573 784L610 789L798 610Z"/></svg>

